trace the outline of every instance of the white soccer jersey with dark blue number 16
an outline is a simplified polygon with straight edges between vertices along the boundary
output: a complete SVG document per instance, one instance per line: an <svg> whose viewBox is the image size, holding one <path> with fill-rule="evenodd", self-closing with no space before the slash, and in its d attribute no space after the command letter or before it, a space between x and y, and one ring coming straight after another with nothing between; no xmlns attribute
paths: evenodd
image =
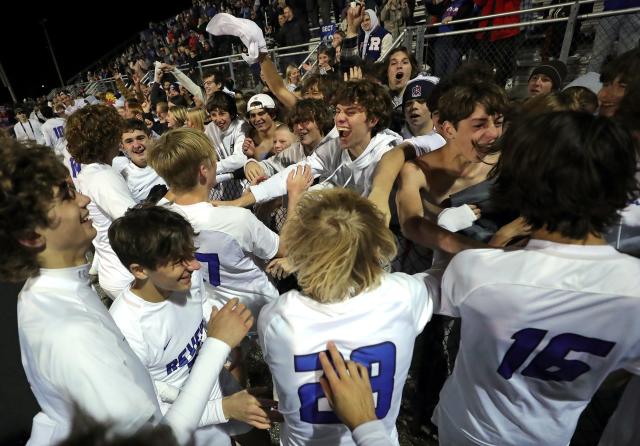
<svg viewBox="0 0 640 446"><path fill-rule="evenodd" d="M443 445L566 445L610 372L640 373L640 260L610 246L463 251L436 312L462 318Z"/></svg>

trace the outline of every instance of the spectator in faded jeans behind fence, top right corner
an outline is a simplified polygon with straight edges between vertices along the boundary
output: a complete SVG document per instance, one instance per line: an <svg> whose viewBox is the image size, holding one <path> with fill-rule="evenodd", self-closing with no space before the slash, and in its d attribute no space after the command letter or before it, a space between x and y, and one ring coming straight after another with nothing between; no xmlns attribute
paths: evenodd
<svg viewBox="0 0 640 446"><path fill-rule="evenodd" d="M640 6L640 0L604 0L604 11L615 11ZM591 50L588 71L602 70L602 63L611 54L613 43L617 41L617 54L622 54L638 46L640 39L640 13L619 14L598 19L596 37ZM616 54L614 54L615 56Z"/></svg>

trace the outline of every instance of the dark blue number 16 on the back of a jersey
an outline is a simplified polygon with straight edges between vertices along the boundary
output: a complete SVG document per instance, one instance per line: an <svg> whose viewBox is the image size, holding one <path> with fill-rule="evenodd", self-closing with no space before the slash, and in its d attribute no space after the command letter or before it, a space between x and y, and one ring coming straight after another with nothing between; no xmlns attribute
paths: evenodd
<svg viewBox="0 0 640 446"><path fill-rule="evenodd" d="M498 373L504 379L510 379L547 333L547 330L537 328L525 328L514 333L511 339L515 341L504 355L498 367ZM551 338L547 346L533 357L521 373L523 376L544 381L573 381L591 370L591 367L577 359L566 359L570 352L584 352L604 358L614 345L616 345L615 342L587 338L574 333L562 333Z"/></svg>

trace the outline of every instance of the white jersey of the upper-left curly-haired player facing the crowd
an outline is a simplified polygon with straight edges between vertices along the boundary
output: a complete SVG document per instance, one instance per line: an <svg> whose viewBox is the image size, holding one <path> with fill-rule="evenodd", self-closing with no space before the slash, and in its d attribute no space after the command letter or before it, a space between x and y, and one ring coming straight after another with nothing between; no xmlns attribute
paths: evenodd
<svg viewBox="0 0 640 446"><path fill-rule="evenodd" d="M133 276L109 244L109 226L136 202L124 178L108 164L83 164L76 181L79 192L91 198L87 209L98 232L93 246L98 257L100 286L115 299L131 284Z"/></svg>

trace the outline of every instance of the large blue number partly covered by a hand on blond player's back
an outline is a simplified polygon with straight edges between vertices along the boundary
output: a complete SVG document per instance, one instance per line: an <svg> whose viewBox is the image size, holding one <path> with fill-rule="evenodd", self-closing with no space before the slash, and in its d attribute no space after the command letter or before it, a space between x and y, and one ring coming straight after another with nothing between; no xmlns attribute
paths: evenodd
<svg viewBox="0 0 640 446"><path fill-rule="evenodd" d="M396 375L396 346L392 342L360 347L351 352L351 360L367 367L371 390L378 394L376 416L384 418L391 408L393 385ZM293 357L296 372L322 370L319 353ZM318 402L324 398L320 383L308 383L298 388L300 419L312 424L341 423L332 410L320 410Z"/></svg>

